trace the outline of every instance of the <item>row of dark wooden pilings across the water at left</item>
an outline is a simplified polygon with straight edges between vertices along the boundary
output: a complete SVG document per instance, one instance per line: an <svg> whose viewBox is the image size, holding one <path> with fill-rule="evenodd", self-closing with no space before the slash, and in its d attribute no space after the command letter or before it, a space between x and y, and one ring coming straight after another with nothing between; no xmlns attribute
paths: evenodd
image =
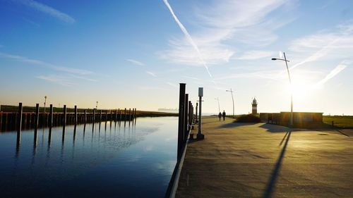
<svg viewBox="0 0 353 198"><path fill-rule="evenodd" d="M136 118L136 109L114 109L97 110L93 109L88 113L78 113L75 106L74 113L67 113L66 105L62 112L53 112L50 104L49 113L40 112L39 104L36 104L35 112L23 112L22 103L18 105L18 112L0 111L0 131L45 128L50 126L73 125L82 123L95 123L102 121L133 120Z"/></svg>

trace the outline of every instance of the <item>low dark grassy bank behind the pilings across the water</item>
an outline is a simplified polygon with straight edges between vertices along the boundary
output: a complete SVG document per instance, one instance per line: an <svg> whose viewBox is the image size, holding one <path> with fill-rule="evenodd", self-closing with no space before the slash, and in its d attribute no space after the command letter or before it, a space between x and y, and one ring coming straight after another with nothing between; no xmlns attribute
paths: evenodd
<svg viewBox="0 0 353 198"><path fill-rule="evenodd" d="M93 113L93 109L86 109L87 113ZM99 112L101 109L98 109L97 112ZM102 109L102 111L105 113L110 109ZM17 112L18 111L18 106L11 106L11 105L1 105L1 111L3 112ZM61 107L53 107L54 113L61 113L63 112L63 108ZM73 108L67 108L66 111L68 113L73 113L75 112L75 109ZM78 113L84 113L85 109L77 109ZM112 109L113 112L115 112L115 109ZM132 111L132 110L131 110ZM35 106L23 106L23 112L35 112ZM40 112L44 112L44 107L40 107ZM49 106L46 107L46 112L49 112ZM121 113L124 113L124 109L122 109ZM128 109L126 110L126 113L128 113ZM158 111L136 111L136 115L138 117L160 117L160 116L178 116L178 113L164 113L164 112L158 112Z"/></svg>

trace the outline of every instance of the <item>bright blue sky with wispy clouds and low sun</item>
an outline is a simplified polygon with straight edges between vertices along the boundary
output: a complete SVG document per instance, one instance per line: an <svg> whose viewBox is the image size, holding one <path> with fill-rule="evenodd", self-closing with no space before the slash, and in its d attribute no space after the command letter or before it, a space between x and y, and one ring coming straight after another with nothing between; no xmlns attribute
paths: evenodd
<svg viewBox="0 0 353 198"><path fill-rule="evenodd" d="M350 0L0 0L0 104L353 115L352 63Z"/></svg>

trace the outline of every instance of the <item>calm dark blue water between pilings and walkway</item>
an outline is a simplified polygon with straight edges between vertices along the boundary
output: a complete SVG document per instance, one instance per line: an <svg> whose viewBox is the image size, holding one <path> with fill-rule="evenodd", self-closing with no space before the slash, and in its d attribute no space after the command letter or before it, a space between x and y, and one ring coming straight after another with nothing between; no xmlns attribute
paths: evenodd
<svg viewBox="0 0 353 198"><path fill-rule="evenodd" d="M99 130L100 128L100 130ZM177 117L0 133L0 197L163 197L177 159Z"/></svg>

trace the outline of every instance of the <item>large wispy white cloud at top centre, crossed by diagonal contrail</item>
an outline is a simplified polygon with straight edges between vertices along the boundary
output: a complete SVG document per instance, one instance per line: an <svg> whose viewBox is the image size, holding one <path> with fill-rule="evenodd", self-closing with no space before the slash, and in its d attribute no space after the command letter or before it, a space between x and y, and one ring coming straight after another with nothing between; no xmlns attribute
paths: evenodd
<svg viewBox="0 0 353 198"><path fill-rule="evenodd" d="M167 1L164 0L164 3ZM169 62L188 66L203 66L201 55L208 66L227 63L230 58L250 59L248 54L236 56L241 45L256 49L275 42L275 30L296 18L291 14L296 8L295 5L296 1L286 0L225 0L198 4L196 8L189 9L193 13L187 16L191 25L197 27L197 32L192 34L193 42L190 41L189 32L185 31L185 27L180 25L180 21L171 11L185 37L169 39L170 49L159 51L158 55ZM168 7L171 10L170 6ZM195 50L194 46L198 47L198 50ZM260 54L259 51L257 54L254 52L256 51L252 54L258 57L267 55Z"/></svg>

